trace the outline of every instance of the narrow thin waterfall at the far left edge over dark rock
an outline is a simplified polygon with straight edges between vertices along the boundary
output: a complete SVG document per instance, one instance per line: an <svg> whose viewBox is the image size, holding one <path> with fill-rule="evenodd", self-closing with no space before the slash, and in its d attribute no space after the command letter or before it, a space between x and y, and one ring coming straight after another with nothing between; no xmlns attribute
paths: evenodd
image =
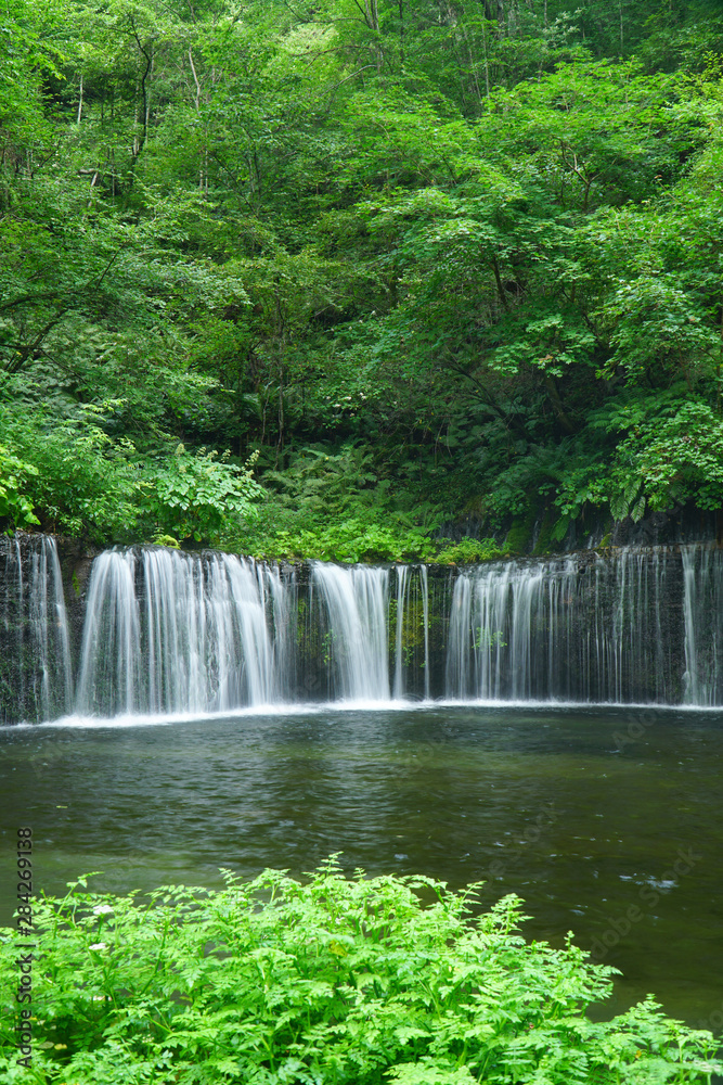
<svg viewBox="0 0 723 1085"><path fill-rule="evenodd" d="M3 539L0 719L53 719L70 706L70 637L55 539Z"/></svg>

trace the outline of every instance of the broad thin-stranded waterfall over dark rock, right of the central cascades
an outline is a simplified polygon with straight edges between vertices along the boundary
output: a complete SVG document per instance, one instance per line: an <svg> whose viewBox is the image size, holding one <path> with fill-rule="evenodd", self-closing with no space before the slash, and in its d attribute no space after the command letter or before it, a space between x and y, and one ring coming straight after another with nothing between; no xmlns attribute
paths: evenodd
<svg viewBox="0 0 723 1085"><path fill-rule="evenodd" d="M679 553L661 547L463 572L452 596L447 695L680 701L671 608L680 566ZM692 598L690 614L699 605ZM703 702L693 693L692 703Z"/></svg>

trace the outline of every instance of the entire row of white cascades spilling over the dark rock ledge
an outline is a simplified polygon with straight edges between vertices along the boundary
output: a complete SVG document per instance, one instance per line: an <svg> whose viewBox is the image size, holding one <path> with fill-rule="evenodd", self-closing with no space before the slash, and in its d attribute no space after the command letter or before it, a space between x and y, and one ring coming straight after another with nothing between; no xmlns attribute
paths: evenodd
<svg viewBox="0 0 723 1085"><path fill-rule="evenodd" d="M5 540L0 562L9 720L439 697L723 704L713 546L462 571L109 550L92 566L75 698L55 541Z"/></svg>

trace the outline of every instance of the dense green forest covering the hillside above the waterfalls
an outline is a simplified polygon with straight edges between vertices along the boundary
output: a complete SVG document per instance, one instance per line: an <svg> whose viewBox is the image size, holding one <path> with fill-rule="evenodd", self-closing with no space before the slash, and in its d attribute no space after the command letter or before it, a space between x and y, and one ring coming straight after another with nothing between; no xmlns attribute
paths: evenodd
<svg viewBox="0 0 723 1085"><path fill-rule="evenodd" d="M5 525L429 558L723 503L720 3L0 34Z"/></svg>

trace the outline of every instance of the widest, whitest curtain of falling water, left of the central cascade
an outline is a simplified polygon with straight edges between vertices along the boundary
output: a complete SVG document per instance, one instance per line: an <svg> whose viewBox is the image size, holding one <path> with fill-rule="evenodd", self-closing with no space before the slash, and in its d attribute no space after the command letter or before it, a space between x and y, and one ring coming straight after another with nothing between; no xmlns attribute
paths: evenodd
<svg viewBox="0 0 723 1085"><path fill-rule="evenodd" d="M88 590L76 712L274 703L284 689L286 616L279 572L250 559L108 550Z"/></svg>

